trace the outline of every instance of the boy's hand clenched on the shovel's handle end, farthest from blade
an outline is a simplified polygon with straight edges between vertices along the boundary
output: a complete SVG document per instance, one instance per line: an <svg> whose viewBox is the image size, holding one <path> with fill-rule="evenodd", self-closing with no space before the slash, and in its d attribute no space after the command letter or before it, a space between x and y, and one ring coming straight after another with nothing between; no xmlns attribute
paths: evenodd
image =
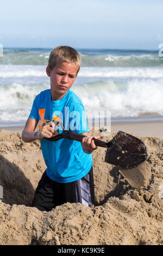
<svg viewBox="0 0 163 256"><path fill-rule="evenodd" d="M52 121L43 125L42 129L38 132L37 139L42 141L43 138L51 138L54 133L57 133L54 129L55 125Z"/></svg>

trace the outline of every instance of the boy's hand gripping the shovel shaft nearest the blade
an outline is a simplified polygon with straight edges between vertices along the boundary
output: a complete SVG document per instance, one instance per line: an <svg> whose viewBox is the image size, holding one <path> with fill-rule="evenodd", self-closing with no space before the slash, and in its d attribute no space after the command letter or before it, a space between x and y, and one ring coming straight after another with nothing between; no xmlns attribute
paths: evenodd
<svg viewBox="0 0 163 256"><path fill-rule="evenodd" d="M100 137L98 135L94 137L88 135L82 139L82 148L86 154L91 154L93 150L97 149L97 146L92 138L99 139Z"/></svg>

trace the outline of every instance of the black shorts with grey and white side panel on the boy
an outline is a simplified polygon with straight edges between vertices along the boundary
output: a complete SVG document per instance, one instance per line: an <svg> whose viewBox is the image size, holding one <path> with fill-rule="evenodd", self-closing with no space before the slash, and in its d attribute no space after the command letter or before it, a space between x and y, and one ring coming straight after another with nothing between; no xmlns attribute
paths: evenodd
<svg viewBox="0 0 163 256"><path fill-rule="evenodd" d="M91 207L95 204L93 169L82 179L59 183L49 179L46 171L36 188L32 206L40 211L51 211L55 206L64 203L81 203Z"/></svg>

